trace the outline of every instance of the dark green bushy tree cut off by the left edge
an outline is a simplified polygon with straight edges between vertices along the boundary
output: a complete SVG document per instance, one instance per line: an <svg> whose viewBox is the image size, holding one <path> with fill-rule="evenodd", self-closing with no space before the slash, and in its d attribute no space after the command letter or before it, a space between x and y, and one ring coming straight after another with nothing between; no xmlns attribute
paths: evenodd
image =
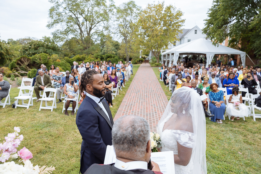
<svg viewBox="0 0 261 174"><path fill-rule="evenodd" d="M0 65L4 65L7 61L12 60L14 57L13 50L9 47L9 45L0 40Z"/></svg>

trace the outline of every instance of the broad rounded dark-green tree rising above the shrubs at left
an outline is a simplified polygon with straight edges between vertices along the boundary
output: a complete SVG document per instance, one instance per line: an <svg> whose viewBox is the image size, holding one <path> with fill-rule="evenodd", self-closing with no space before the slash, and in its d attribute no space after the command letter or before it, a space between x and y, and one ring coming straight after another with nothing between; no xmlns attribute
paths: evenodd
<svg viewBox="0 0 261 174"><path fill-rule="evenodd" d="M48 55L59 54L60 48L50 37L43 37L43 39L32 40L22 46L22 55L34 56L40 53Z"/></svg>

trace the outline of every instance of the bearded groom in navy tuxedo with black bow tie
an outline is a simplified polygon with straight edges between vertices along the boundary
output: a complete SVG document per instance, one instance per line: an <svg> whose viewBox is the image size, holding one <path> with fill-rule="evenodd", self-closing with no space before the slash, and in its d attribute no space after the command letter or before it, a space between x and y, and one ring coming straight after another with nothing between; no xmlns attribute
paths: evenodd
<svg viewBox="0 0 261 174"><path fill-rule="evenodd" d="M112 145L113 117L104 99L106 84L95 70L87 70L81 76L79 92L86 97L76 116L76 125L82 136L80 172L92 164L103 164L107 145Z"/></svg>

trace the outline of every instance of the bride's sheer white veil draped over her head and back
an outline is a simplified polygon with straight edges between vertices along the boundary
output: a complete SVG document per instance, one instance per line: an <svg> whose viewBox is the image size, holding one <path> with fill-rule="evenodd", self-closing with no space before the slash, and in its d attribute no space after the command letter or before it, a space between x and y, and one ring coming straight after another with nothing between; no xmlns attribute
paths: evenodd
<svg viewBox="0 0 261 174"><path fill-rule="evenodd" d="M165 130L173 135L165 141L175 138L180 145L192 148L192 173L206 174L206 119L200 95L194 89L182 87L173 92L158 122L157 133L162 135Z"/></svg>

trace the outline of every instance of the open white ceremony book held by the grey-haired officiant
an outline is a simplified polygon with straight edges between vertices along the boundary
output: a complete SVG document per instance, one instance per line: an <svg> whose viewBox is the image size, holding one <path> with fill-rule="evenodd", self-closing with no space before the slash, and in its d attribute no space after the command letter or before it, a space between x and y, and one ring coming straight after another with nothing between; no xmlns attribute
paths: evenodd
<svg viewBox="0 0 261 174"><path fill-rule="evenodd" d="M153 152L151 153L151 161L157 163L163 174L175 174L173 151ZM113 146L107 146L104 158L104 164L112 164L116 162L116 154Z"/></svg>

